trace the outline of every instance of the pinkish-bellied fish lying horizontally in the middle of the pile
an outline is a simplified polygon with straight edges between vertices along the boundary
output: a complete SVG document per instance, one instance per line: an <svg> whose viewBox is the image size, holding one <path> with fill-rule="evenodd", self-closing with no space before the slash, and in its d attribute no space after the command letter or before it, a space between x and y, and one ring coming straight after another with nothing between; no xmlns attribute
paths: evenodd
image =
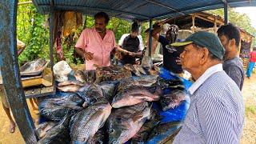
<svg viewBox="0 0 256 144"><path fill-rule="evenodd" d="M162 95L162 89L158 85L130 86L125 90L118 91L112 100L112 107L132 106L142 102L158 101Z"/></svg>

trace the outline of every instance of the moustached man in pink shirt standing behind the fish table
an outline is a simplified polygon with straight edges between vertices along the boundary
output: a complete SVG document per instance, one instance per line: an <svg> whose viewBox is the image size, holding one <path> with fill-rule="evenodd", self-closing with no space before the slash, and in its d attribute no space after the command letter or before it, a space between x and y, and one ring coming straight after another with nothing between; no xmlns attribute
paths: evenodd
<svg viewBox="0 0 256 144"><path fill-rule="evenodd" d="M115 50L114 33L106 30L109 16L99 12L94 20L94 27L83 30L75 45L76 52L86 61L86 70L95 70L94 65L110 66L110 53Z"/></svg>

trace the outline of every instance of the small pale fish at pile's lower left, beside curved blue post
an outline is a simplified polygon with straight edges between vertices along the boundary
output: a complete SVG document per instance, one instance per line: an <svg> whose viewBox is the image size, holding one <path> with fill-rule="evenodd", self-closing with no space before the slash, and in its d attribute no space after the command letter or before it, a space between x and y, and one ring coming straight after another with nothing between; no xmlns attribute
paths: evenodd
<svg viewBox="0 0 256 144"><path fill-rule="evenodd" d="M44 137L46 132L56 125L58 125L58 122L43 122L42 124L39 124L35 130L38 138Z"/></svg>

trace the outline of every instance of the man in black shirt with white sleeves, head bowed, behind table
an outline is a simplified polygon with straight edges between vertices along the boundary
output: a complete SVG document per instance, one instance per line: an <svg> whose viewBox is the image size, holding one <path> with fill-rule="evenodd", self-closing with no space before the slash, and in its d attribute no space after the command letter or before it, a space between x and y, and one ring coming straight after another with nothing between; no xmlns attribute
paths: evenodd
<svg viewBox="0 0 256 144"><path fill-rule="evenodd" d="M118 42L118 51L122 53L120 62L135 64L136 58L142 56L143 43L141 36L138 36L138 23L134 22L130 34L123 34Z"/></svg>

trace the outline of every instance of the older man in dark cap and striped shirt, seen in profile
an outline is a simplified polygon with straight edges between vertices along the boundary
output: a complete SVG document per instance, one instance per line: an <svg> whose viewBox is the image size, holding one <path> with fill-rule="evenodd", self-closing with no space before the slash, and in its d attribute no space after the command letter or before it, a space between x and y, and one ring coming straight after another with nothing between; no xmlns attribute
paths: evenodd
<svg viewBox="0 0 256 144"><path fill-rule="evenodd" d="M222 69L225 50L215 34L191 34L180 55L182 69L195 82L190 87L190 108L174 143L239 143L244 122L242 94Z"/></svg>

